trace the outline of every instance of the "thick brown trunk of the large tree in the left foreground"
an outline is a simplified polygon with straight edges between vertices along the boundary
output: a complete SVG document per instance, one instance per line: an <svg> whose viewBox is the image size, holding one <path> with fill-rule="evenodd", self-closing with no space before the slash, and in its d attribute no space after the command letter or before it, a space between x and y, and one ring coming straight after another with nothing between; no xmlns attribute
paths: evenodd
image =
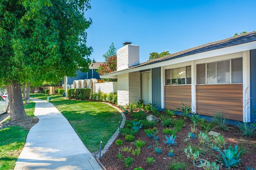
<svg viewBox="0 0 256 170"><path fill-rule="evenodd" d="M20 84L16 81L13 84L7 85L9 105L10 105L10 122L28 121L22 101Z"/></svg>

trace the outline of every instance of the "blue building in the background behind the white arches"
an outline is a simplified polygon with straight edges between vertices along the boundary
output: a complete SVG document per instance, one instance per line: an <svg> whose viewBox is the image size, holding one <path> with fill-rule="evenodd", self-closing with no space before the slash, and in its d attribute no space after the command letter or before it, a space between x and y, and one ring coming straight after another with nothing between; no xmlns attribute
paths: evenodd
<svg viewBox="0 0 256 170"><path fill-rule="evenodd" d="M96 72L100 64L102 64L102 62L95 62L93 66L89 67L88 72L82 72L79 69L76 77L67 77L67 84L73 84L74 80L100 79L100 75ZM62 84L64 84L64 79L62 80Z"/></svg>

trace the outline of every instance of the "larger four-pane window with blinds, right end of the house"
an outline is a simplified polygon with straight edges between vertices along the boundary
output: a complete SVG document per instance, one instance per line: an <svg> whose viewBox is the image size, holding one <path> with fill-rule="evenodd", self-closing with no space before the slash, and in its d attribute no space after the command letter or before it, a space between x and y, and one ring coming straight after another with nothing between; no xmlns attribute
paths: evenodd
<svg viewBox="0 0 256 170"><path fill-rule="evenodd" d="M232 83L243 82L243 58L197 64L197 84L231 83L230 80Z"/></svg>

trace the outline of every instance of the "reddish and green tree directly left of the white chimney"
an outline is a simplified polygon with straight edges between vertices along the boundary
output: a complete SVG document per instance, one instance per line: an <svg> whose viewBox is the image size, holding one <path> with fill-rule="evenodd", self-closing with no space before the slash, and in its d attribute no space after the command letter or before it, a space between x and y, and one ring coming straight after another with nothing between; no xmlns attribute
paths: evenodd
<svg viewBox="0 0 256 170"><path fill-rule="evenodd" d="M102 64L100 64L100 66L97 69L97 72L100 75L117 70L117 49L115 48L113 42L111 46L109 46L108 51L105 54L103 54L102 57L105 58L105 61ZM102 79L102 80L106 82L117 81L117 79Z"/></svg>

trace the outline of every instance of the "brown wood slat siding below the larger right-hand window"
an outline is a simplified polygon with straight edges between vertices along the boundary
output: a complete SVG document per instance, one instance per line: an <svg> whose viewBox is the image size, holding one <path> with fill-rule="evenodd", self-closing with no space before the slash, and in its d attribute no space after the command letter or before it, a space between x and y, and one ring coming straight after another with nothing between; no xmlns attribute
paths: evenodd
<svg viewBox="0 0 256 170"><path fill-rule="evenodd" d="M196 85L197 113L211 116L223 111L229 119L243 121L243 84Z"/></svg>

